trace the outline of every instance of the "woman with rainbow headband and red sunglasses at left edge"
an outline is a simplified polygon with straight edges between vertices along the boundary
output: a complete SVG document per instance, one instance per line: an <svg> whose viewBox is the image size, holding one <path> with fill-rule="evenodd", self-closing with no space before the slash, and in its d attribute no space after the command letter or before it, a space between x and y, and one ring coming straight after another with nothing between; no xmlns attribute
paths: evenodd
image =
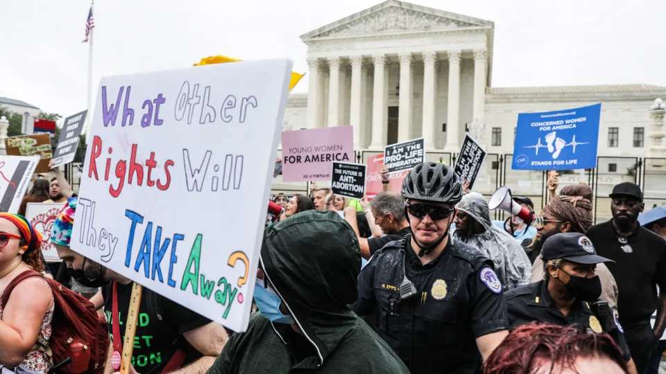
<svg viewBox="0 0 666 374"><path fill-rule="evenodd" d="M0 213L0 295L24 271L44 271L42 235L21 215ZM51 368L44 351L51 337L53 294L40 278L14 287L0 303L0 372L46 373Z"/></svg>

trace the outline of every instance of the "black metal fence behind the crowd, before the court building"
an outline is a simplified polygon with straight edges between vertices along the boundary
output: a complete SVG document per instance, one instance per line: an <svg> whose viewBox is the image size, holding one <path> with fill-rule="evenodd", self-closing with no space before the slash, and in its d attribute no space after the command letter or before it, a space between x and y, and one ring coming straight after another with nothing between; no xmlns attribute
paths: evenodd
<svg viewBox="0 0 666 374"><path fill-rule="evenodd" d="M281 154L281 150L278 150ZM383 152L359 150L354 152L357 163L368 163L368 159ZM278 154L278 157L280 155ZM80 175L83 172L83 161L85 148L78 148L73 163L65 166L65 177L72 188L78 193ZM451 152L427 152L427 161L443 162L454 166L456 153ZM486 161L481 166L479 177L472 187L486 198L500 186L509 186L513 196L529 197L534 203L537 214L547 204L549 191L547 188L548 175L546 171L513 170L513 154L486 155ZM610 219L610 194L613 186L624 181L638 184L643 191L645 210L654 206L666 206L666 158L650 157L597 157L597 168L586 170L558 170L559 188L579 184L583 180L592 188L594 222L603 222ZM303 193L309 194L311 186L309 182L284 182L282 177L276 177L274 190L287 194ZM495 220L504 220L507 213L504 211L493 211Z"/></svg>

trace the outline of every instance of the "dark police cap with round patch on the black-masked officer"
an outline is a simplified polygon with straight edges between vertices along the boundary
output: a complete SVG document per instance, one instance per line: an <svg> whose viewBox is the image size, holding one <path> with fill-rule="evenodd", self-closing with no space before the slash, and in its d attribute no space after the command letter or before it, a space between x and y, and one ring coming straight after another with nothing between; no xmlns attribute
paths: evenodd
<svg viewBox="0 0 666 374"><path fill-rule="evenodd" d="M615 262L597 255L592 240L581 233L557 233L548 238L541 247L543 260L561 258L579 264Z"/></svg>

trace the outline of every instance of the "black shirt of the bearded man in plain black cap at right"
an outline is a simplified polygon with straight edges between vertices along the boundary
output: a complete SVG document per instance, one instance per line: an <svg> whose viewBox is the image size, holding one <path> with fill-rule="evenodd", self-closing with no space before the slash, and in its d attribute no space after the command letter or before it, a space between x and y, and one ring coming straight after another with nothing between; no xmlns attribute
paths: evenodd
<svg viewBox="0 0 666 374"><path fill-rule="evenodd" d="M626 239L632 252L626 253L617 241L611 221L592 226L586 234L599 256L606 262L617 283L617 312L622 324L629 327L647 323L657 308L657 290L666 290L666 241L642 226Z"/></svg>

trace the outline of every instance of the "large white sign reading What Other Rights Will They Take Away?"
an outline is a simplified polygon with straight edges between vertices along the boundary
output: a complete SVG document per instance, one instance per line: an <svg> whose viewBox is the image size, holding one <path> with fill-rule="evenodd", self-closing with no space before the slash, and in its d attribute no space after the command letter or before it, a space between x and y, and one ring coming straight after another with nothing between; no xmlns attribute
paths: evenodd
<svg viewBox="0 0 666 374"><path fill-rule="evenodd" d="M71 248L246 330L290 72L266 60L102 78Z"/></svg>

